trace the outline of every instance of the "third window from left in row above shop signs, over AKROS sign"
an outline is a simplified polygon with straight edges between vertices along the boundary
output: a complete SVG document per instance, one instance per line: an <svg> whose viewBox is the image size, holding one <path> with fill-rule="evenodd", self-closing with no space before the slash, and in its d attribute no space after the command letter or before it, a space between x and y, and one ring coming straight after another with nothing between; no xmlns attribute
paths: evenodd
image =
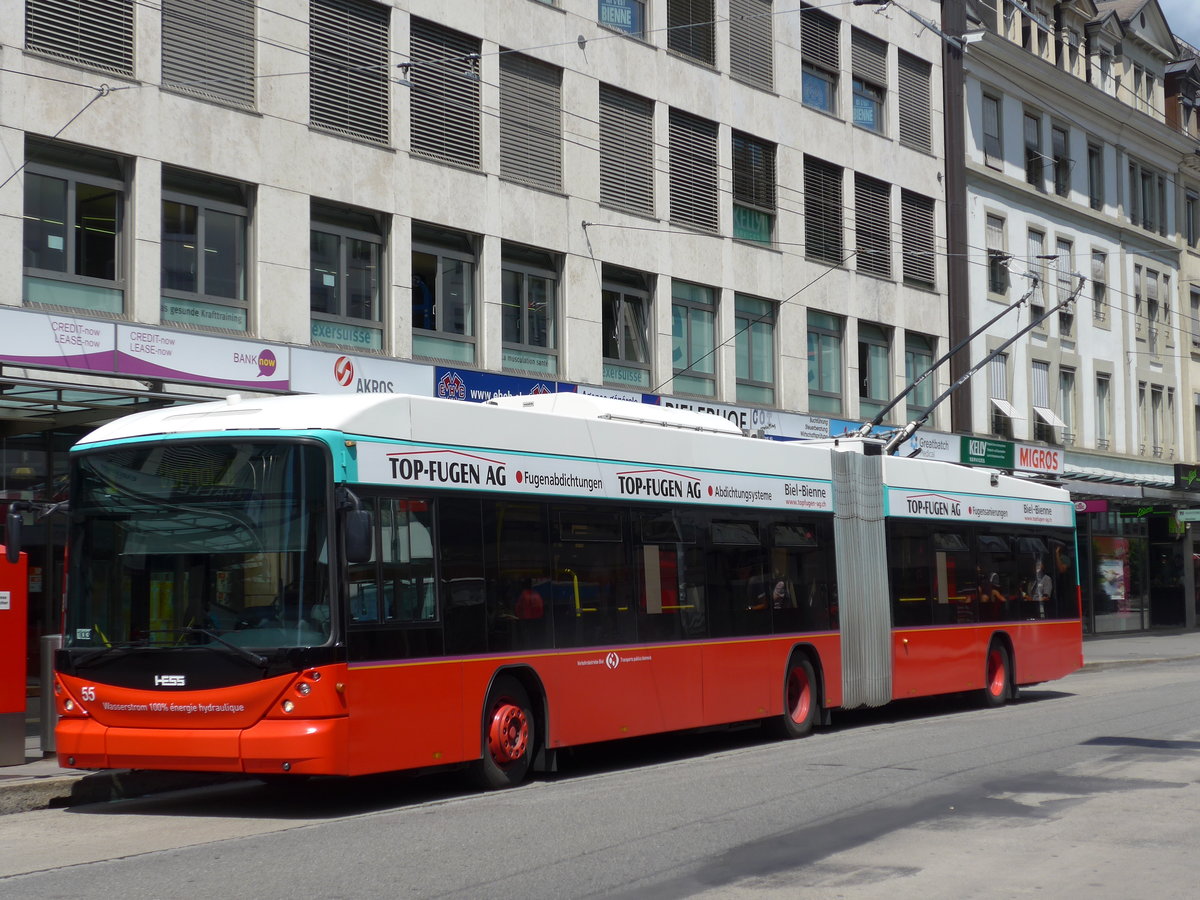
<svg viewBox="0 0 1200 900"><path fill-rule="evenodd" d="M310 230L312 342L382 350L383 228L365 210L313 202Z"/></svg>

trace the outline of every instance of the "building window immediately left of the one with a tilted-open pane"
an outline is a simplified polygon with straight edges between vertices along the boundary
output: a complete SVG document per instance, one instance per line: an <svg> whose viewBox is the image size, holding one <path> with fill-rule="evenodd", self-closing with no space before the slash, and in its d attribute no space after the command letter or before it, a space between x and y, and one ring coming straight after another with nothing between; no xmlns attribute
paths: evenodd
<svg viewBox="0 0 1200 900"><path fill-rule="evenodd" d="M505 244L500 260L500 332L504 368L558 374L558 259Z"/></svg>

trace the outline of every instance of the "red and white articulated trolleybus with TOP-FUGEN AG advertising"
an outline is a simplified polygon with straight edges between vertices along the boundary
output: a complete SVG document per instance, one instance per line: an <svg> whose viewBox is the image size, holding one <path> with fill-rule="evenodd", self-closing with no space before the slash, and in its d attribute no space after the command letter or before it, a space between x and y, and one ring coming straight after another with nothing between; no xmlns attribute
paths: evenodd
<svg viewBox="0 0 1200 900"><path fill-rule="evenodd" d="M1066 492L559 394L162 409L72 451L62 766L469 767L1081 664Z"/></svg>

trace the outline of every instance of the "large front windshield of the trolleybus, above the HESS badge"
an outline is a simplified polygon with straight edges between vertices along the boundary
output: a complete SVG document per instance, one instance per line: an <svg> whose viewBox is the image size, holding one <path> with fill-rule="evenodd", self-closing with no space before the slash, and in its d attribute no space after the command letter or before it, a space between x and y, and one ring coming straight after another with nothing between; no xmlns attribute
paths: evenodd
<svg viewBox="0 0 1200 900"><path fill-rule="evenodd" d="M74 461L67 648L330 640L318 444L145 443Z"/></svg>

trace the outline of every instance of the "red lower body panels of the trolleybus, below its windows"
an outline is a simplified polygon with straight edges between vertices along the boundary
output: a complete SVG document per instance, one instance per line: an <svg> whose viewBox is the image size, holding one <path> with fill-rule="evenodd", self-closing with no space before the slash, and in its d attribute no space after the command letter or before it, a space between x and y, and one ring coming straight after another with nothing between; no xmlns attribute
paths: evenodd
<svg viewBox="0 0 1200 900"><path fill-rule="evenodd" d="M893 698L979 690L992 640L1018 684L1082 665L1079 620L895 629ZM521 670L557 749L778 716L793 649L820 702L842 702L835 632L680 644L340 664L205 691L58 676L59 763L71 768L361 775L478 760L500 670Z"/></svg>

